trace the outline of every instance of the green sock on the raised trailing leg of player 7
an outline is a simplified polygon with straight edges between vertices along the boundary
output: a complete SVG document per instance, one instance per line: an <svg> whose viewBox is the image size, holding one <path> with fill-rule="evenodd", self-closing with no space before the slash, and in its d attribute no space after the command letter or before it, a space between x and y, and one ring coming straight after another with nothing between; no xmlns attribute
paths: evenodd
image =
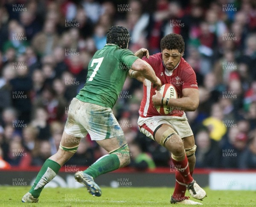
<svg viewBox="0 0 256 207"><path fill-rule="evenodd" d="M119 166L120 161L116 154L104 155L84 170L84 173L96 178L99 175L118 169Z"/></svg>

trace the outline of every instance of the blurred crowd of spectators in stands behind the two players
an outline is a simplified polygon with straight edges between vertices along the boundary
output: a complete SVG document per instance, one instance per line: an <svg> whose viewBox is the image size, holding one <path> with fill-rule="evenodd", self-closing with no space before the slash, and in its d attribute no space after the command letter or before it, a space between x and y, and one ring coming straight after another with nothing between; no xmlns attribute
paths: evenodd
<svg viewBox="0 0 256 207"><path fill-rule="evenodd" d="M256 168L256 1L3 0L0 3L0 168L41 166L58 149L70 101L113 25L129 49L160 51L178 33L195 70L200 105L186 112L196 167ZM131 167L170 167L170 154L137 126L142 84L127 78L113 112L131 148ZM106 154L90 136L67 164Z"/></svg>

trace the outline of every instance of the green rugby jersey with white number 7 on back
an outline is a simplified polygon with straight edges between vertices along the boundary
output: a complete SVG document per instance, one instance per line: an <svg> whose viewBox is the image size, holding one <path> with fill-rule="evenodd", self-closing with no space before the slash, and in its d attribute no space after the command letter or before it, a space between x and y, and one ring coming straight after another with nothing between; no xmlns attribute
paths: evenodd
<svg viewBox="0 0 256 207"><path fill-rule="evenodd" d="M138 58L128 49L105 45L89 63L84 87L76 96L83 102L113 108L129 69Z"/></svg>

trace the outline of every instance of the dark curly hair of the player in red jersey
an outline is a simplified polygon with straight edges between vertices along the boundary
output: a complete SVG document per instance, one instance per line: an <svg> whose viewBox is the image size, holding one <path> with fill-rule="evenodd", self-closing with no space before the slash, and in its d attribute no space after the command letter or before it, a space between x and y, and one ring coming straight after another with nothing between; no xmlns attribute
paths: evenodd
<svg viewBox="0 0 256 207"><path fill-rule="evenodd" d="M169 34L162 38L161 50L164 49L177 49L180 53L184 52L185 43L183 37L178 34Z"/></svg>

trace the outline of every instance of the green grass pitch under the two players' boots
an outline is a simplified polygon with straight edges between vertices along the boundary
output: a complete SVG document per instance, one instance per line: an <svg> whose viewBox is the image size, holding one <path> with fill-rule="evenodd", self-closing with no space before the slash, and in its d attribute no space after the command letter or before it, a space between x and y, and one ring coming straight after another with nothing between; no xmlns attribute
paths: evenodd
<svg viewBox="0 0 256 207"><path fill-rule="evenodd" d="M102 196L93 197L85 187L45 188L37 204L22 203L21 198L28 190L29 187L0 187L0 207L165 207L171 205L170 193L173 192L173 188L166 187L102 187ZM207 207L256 206L255 191L205 190L207 197L200 202Z"/></svg>

